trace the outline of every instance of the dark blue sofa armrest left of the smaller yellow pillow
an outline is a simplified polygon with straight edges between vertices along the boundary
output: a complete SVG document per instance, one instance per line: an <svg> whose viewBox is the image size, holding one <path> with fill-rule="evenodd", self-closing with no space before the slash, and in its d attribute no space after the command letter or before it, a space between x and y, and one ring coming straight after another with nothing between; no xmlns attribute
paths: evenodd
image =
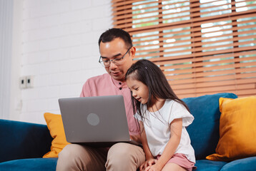
<svg viewBox="0 0 256 171"><path fill-rule="evenodd" d="M0 120L0 162L43 157L52 140L46 125Z"/></svg>

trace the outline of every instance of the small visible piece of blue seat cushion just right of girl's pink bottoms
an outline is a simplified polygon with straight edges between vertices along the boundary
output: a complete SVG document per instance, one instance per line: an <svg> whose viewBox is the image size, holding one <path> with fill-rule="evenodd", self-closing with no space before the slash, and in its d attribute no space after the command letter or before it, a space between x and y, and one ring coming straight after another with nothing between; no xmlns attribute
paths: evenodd
<svg viewBox="0 0 256 171"><path fill-rule="evenodd" d="M197 160L195 166L197 171L219 171L227 162L215 162L211 160Z"/></svg>

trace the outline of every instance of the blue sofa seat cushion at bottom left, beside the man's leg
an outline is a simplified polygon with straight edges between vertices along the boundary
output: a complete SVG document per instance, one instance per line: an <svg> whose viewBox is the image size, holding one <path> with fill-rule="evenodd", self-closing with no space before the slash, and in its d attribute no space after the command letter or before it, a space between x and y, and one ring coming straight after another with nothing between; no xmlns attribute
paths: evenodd
<svg viewBox="0 0 256 171"><path fill-rule="evenodd" d="M0 163L1 171L55 171L58 158L31 158Z"/></svg>

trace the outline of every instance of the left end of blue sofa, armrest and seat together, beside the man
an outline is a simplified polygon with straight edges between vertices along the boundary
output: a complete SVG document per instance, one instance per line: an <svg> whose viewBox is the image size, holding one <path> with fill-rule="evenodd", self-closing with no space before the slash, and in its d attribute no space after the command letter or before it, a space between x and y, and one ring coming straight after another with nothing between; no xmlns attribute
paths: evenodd
<svg viewBox="0 0 256 171"><path fill-rule="evenodd" d="M46 125L0 120L0 170L56 170L57 158L42 158L52 140Z"/></svg>

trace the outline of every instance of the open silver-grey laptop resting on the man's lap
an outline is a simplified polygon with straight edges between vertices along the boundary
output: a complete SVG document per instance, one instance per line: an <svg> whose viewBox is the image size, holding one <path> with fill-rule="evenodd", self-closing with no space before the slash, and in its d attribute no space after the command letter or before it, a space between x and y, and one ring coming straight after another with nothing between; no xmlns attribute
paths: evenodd
<svg viewBox="0 0 256 171"><path fill-rule="evenodd" d="M129 142L127 116L122 95L60 98L59 108L67 142L110 147Z"/></svg>

